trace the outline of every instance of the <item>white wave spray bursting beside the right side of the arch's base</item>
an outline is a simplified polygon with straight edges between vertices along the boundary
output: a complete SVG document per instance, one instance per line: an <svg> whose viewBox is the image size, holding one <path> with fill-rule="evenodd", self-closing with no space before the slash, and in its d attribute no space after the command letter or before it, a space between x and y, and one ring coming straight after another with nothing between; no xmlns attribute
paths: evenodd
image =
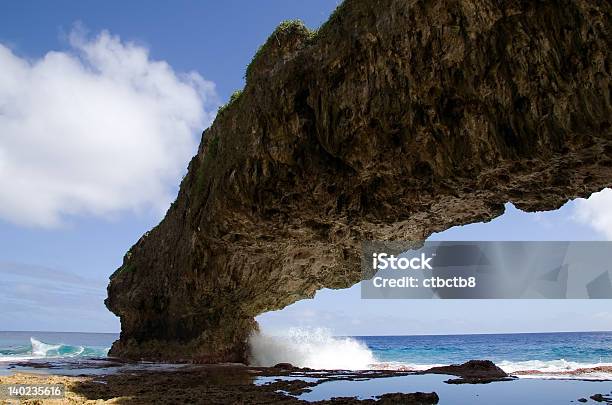
<svg viewBox="0 0 612 405"><path fill-rule="evenodd" d="M365 344L334 337L326 329L292 328L284 336L256 333L249 343L249 360L255 366L291 363L321 370L367 370L376 363Z"/></svg>

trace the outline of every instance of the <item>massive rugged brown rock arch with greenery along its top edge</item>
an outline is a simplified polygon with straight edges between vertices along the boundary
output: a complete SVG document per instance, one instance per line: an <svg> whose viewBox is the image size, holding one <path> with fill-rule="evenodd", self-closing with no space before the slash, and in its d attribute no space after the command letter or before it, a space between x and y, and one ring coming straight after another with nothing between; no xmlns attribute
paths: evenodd
<svg viewBox="0 0 612 405"><path fill-rule="evenodd" d="M611 8L346 0L279 26L111 277L111 355L242 361L256 315L359 281L362 240L612 186Z"/></svg>

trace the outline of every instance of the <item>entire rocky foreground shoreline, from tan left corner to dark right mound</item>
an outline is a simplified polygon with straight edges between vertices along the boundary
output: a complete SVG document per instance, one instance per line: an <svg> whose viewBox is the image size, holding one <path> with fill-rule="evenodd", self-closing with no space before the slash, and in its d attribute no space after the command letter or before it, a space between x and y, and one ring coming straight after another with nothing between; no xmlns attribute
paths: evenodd
<svg viewBox="0 0 612 405"><path fill-rule="evenodd" d="M27 363L15 363L15 367ZM95 368L91 362L79 369L76 375L52 375L17 371L10 376L0 376L0 384L63 384L66 397L56 400L26 399L26 404L154 404L154 403L206 403L206 404L437 404L436 392L388 392L374 398L360 399L356 396L332 397L307 402L300 395L311 392L327 382L359 382L392 377L441 374L456 376L444 381L447 384L487 384L513 381L494 363L472 360L463 364L434 367L426 371L408 370L313 370L293 367L288 363L274 367L250 367L237 363L216 365L172 365L168 368L146 369L139 363L100 361L99 372L78 374ZM112 367L123 365L125 369L109 372ZM142 364L140 364L142 365ZM31 364L29 364L32 367ZM51 363L39 363L38 369L59 372ZM15 368L17 370L17 368ZM404 391L401 386L394 387ZM427 390L423 390L427 391ZM610 394L593 393L591 398L610 403ZM578 401L582 398L568 400ZM596 401L596 399L593 399Z"/></svg>

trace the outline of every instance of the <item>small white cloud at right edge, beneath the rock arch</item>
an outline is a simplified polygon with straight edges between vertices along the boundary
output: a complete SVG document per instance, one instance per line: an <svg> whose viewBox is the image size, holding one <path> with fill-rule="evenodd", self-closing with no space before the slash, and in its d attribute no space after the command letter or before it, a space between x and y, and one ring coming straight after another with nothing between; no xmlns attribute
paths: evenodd
<svg viewBox="0 0 612 405"><path fill-rule="evenodd" d="M606 188L576 202L575 217L612 240L612 189Z"/></svg>

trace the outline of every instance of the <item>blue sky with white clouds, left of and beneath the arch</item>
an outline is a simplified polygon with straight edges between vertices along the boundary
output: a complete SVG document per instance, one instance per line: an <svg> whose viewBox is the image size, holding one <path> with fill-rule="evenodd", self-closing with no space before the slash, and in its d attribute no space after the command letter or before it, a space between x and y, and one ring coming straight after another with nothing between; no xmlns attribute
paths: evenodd
<svg viewBox="0 0 612 405"><path fill-rule="evenodd" d="M0 329L118 331L102 300L161 219L203 127L285 19L336 0L22 1L0 5ZM8 78L8 79L7 79ZM171 123L168 124L168 122ZM556 212L509 205L447 240L612 238L610 193ZM359 289L259 318L337 334L612 329L609 301L365 301Z"/></svg>

